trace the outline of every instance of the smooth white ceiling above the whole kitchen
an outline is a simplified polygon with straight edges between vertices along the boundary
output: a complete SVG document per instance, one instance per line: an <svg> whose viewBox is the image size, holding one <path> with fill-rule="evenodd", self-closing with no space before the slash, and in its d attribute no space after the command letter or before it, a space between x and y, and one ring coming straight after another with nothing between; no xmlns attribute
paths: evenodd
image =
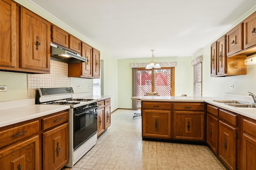
<svg viewBox="0 0 256 170"><path fill-rule="evenodd" d="M192 56L256 0L29 0L116 59Z"/></svg>

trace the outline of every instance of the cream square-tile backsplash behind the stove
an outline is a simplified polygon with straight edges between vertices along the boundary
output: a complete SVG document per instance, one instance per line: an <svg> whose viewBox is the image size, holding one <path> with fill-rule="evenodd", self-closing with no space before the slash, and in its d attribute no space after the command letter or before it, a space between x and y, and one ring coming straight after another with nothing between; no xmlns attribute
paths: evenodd
<svg viewBox="0 0 256 170"><path fill-rule="evenodd" d="M50 74L28 74L28 98L36 98L36 88L70 87L68 64L50 60Z"/></svg>

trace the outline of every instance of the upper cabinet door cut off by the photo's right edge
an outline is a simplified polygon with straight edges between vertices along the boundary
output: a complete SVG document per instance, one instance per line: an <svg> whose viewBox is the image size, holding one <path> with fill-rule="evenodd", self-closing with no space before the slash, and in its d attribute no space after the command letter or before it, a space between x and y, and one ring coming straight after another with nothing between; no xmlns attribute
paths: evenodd
<svg viewBox="0 0 256 170"><path fill-rule="evenodd" d="M256 12L244 20L244 48L256 45Z"/></svg>

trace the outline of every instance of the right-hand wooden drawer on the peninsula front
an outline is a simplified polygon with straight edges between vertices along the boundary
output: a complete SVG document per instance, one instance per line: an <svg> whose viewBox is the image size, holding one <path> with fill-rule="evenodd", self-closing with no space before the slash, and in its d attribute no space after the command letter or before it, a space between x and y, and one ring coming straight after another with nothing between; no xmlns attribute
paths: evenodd
<svg viewBox="0 0 256 170"><path fill-rule="evenodd" d="M174 110L204 110L204 103L174 103Z"/></svg>

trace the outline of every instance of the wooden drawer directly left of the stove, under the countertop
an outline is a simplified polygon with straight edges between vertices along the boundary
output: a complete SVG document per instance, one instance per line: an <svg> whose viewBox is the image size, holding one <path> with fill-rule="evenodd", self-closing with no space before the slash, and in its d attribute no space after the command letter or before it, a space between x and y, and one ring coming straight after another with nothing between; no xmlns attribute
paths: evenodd
<svg viewBox="0 0 256 170"><path fill-rule="evenodd" d="M58 115L44 118L44 119L42 119L43 130L48 129L50 127L54 127L55 125L58 125L65 121L68 121L68 112L67 111L64 113L60 113Z"/></svg>

